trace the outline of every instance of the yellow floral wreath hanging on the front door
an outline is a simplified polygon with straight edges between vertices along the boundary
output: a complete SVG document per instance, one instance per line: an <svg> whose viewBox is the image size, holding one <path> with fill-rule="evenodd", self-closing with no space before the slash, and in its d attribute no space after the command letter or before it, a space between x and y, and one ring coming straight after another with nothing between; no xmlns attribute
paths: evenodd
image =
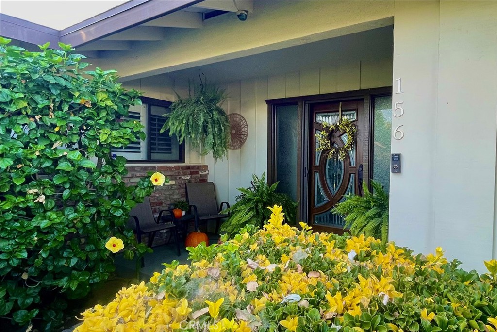
<svg viewBox="0 0 497 332"><path fill-rule="evenodd" d="M338 155L340 160L344 160L347 154L354 147L354 134L357 128L345 117L340 118L335 124L323 123L323 130L316 134L317 146L316 152L330 151L328 159ZM347 134L347 141L341 148L331 147L331 138L336 131L342 131Z"/></svg>

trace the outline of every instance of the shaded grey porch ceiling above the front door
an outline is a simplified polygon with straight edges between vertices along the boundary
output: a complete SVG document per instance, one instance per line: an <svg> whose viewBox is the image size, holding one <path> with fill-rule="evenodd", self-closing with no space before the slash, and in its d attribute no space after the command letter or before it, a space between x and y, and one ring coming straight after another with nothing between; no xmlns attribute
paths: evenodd
<svg viewBox="0 0 497 332"><path fill-rule="evenodd" d="M186 81L196 79L200 73L204 73L209 80L223 83L351 61L391 61L392 58L391 25L163 75L174 81Z"/></svg>

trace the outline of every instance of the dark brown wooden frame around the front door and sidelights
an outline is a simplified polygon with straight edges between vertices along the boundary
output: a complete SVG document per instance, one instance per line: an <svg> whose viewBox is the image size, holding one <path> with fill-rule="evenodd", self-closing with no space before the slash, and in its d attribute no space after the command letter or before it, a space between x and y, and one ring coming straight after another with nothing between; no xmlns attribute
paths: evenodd
<svg viewBox="0 0 497 332"><path fill-rule="evenodd" d="M309 174L309 132L310 132L310 105L321 102L337 102L347 100L364 99L364 110L369 115L369 138L373 137L374 125L374 103L372 102L375 97L382 95L391 95L392 86L361 89L354 91L335 92L326 94L313 94L307 96L289 97L289 98L275 98L267 99L267 182L272 184L275 182L276 169L275 169L275 151L276 151L276 107L284 105L297 105L298 111L298 127L300 128L297 137L297 197L300 198L299 209L297 211L297 220L307 221L308 209L308 174ZM367 177L364 181L369 183L369 179L373 173L373 142L369 139L369 146L365 154L369 156L368 167L365 169Z"/></svg>

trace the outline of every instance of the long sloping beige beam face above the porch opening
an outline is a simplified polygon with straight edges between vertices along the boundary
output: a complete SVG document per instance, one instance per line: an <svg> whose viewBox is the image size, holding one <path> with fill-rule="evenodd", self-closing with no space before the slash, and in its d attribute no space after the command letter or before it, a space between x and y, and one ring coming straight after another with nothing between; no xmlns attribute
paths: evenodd
<svg viewBox="0 0 497 332"><path fill-rule="evenodd" d="M221 15L201 29L174 29L162 41L94 59L123 81L303 45L393 23L393 1L254 1L245 22Z"/></svg>

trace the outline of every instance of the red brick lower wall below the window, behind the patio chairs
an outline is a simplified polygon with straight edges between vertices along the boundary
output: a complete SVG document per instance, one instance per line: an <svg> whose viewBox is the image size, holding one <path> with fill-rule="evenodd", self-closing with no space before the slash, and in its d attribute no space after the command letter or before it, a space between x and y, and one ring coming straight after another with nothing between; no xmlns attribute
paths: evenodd
<svg viewBox="0 0 497 332"><path fill-rule="evenodd" d="M150 195L150 204L154 215L157 217L159 211L163 209L170 209L171 204L179 201L186 200L187 182L207 182L209 170L207 165L178 165L178 166L131 166L128 165L128 174L123 178L124 182L134 183L138 182L141 177L147 176L148 171L158 171L163 173L170 181L175 181L171 185L163 185L156 187L155 191ZM193 227L191 223L190 227ZM156 234L154 246L165 242L166 233ZM147 243L146 237L142 241Z"/></svg>

